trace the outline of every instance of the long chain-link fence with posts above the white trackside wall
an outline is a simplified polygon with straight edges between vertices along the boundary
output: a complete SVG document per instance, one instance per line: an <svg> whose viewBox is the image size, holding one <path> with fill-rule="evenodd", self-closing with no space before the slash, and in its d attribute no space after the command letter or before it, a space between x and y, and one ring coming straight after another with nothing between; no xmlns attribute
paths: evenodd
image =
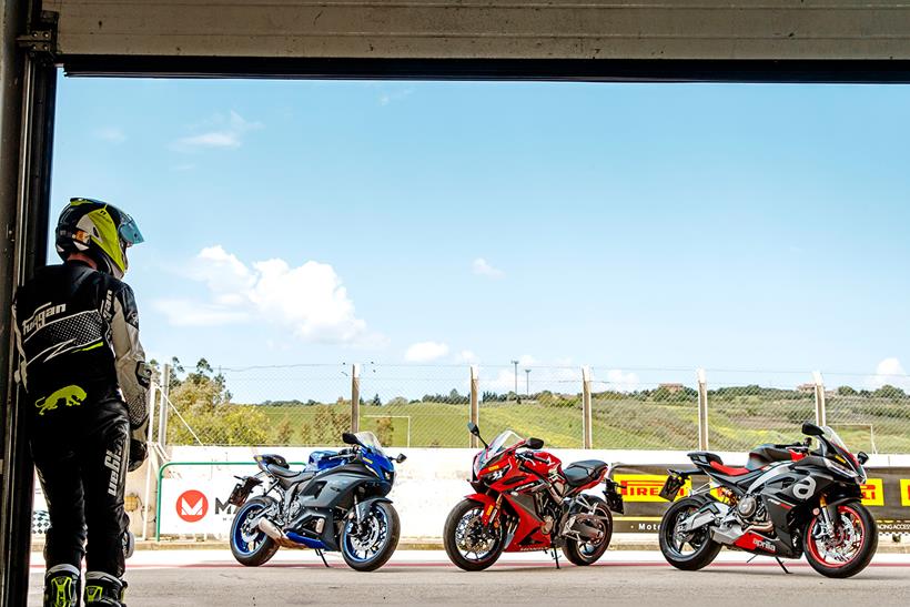
<svg viewBox="0 0 910 607"><path fill-rule="evenodd" d="M474 377L474 381L472 381ZM467 447L505 429L550 447L748 451L826 422L856 451L910 452L907 376L413 364L196 368L168 382L170 444ZM357 406L354 406L356 398ZM476 413L472 414L472 398ZM699 429L701 428L701 429Z"/></svg>

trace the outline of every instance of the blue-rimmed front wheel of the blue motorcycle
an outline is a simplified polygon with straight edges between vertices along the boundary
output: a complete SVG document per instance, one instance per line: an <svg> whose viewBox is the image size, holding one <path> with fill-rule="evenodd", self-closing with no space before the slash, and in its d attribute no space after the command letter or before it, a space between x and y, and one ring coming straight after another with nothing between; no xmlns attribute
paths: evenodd
<svg viewBox="0 0 910 607"><path fill-rule="evenodd" d="M402 526L388 502L374 502L363 520L347 520L341 533L342 557L358 571L374 571L385 565L398 546Z"/></svg>

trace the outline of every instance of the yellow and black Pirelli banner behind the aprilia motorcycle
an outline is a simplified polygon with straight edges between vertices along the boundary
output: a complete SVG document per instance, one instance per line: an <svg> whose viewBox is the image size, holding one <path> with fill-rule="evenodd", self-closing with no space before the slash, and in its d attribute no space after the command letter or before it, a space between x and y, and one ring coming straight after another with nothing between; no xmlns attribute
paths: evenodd
<svg viewBox="0 0 910 607"><path fill-rule="evenodd" d="M623 487L626 513L615 519L617 533L655 533L669 503L658 494L667 479L667 468L690 466L626 466L615 468L613 479ZM862 486L862 503L878 522L879 532L910 534L910 468L866 468L869 479ZM708 482L707 476L694 476L679 497Z"/></svg>

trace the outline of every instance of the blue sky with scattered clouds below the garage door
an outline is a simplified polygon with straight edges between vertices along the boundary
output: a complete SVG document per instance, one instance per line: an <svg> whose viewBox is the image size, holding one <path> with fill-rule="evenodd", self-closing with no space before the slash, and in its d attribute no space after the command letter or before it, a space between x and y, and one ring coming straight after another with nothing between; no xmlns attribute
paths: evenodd
<svg viewBox="0 0 910 607"><path fill-rule="evenodd" d="M871 376L907 141L908 87L62 78L53 214L136 219L159 358Z"/></svg>

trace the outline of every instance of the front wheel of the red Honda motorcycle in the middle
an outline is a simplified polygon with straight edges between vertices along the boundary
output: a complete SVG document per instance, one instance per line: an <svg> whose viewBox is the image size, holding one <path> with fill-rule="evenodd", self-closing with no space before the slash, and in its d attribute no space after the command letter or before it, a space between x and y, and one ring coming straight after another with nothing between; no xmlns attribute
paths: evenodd
<svg viewBox="0 0 910 607"><path fill-rule="evenodd" d="M486 569L499 559L505 549L503 527L484 525L483 515L483 504L465 499L445 519L445 553L452 563L465 571Z"/></svg>

